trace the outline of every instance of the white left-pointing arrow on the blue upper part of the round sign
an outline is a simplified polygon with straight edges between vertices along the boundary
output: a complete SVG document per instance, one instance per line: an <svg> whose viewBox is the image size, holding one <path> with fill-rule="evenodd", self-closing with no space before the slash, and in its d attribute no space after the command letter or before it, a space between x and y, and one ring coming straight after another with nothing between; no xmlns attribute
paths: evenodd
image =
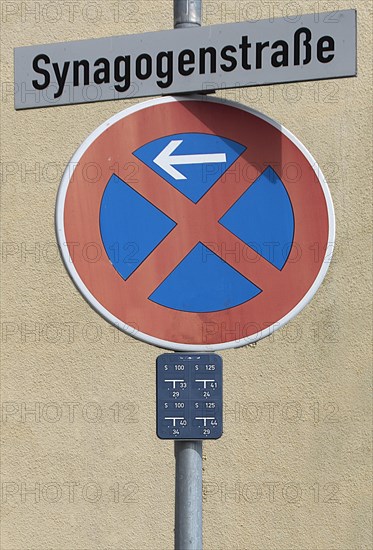
<svg viewBox="0 0 373 550"><path fill-rule="evenodd" d="M175 180L186 180L186 177L174 168L177 164L208 164L227 162L225 153L206 153L205 155L173 155L171 154L183 143L182 139L174 139L154 159L162 170Z"/></svg>

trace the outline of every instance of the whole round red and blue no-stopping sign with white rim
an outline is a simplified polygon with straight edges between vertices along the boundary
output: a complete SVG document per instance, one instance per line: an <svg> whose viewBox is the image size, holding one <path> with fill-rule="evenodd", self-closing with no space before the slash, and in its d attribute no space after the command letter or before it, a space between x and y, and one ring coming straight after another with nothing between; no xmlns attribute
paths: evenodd
<svg viewBox="0 0 373 550"><path fill-rule="evenodd" d="M65 266L109 322L159 347L255 342L310 301L332 254L307 149L243 105L164 97L113 116L63 176Z"/></svg>

